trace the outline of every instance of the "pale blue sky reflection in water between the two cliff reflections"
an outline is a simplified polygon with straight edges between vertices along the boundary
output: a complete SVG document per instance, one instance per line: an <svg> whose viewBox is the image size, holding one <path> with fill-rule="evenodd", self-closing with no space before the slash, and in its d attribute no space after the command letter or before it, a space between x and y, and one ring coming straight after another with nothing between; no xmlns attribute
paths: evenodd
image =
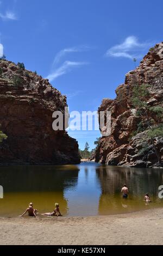
<svg viewBox="0 0 163 256"><path fill-rule="evenodd" d="M96 174L96 163L81 163L76 188L67 187L64 196L68 200L69 216L98 215L101 194L100 180Z"/></svg>

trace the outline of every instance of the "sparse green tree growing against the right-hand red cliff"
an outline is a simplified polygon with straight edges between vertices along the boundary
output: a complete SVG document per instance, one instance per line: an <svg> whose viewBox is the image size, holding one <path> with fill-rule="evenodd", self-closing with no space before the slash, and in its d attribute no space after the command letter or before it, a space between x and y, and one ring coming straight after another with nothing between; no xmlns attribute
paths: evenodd
<svg viewBox="0 0 163 256"><path fill-rule="evenodd" d="M151 107L148 105L150 87L149 84L135 86L131 102L136 108L136 114L141 118L142 129L147 130L147 137L151 140L158 162L161 163L161 154L155 147L155 138L163 136L163 108L161 106Z"/></svg>

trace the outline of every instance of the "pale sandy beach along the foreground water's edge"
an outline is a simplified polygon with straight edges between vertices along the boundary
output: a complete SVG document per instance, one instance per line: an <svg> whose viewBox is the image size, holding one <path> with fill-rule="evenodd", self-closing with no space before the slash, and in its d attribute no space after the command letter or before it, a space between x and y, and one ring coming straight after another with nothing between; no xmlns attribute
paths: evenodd
<svg viewBox="0 0 163 256"><path fill-rule="evenodd" d="M161 245L163 209L96 217L0 218L1 245Z"/></svg>

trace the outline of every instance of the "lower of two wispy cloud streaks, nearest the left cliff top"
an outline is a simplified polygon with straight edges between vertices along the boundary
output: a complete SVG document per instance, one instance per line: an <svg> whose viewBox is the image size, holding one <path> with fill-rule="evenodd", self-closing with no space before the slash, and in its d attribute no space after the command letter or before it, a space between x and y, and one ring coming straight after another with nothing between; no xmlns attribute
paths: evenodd
<svg viewBox="0 0 163 256"><path fill-rule="evenodd" d="M67 72L70 72L72 68L77 66L86 65L86 62L64 62L58 69L54 70L51 74L47 76L47 79L52 82L55 78L65 75Z"/></svg>

